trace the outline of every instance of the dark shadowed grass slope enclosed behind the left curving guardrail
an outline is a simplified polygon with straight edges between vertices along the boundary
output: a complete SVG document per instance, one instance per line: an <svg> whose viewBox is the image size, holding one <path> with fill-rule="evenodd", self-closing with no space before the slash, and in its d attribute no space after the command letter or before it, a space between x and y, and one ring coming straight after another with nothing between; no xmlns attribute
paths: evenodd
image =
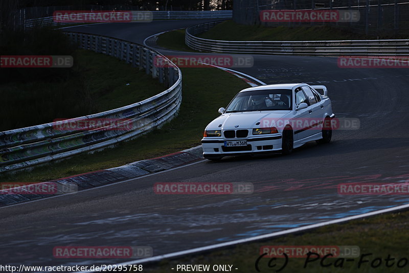
<svg viewBox="0 0 409 273"><path fill-rule="evenodd" d="M166 89L144 70L115 57L78 50L74 63L67 79L1 84L0 97L4 103L0 116L7 119L2 120L0 131L118 108Z"/></svg>

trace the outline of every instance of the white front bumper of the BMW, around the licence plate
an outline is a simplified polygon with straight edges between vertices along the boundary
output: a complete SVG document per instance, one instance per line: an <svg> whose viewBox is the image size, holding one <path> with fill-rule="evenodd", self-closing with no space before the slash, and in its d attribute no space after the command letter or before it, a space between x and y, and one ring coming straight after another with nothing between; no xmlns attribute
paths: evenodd
<svg viewBox="0 0 409 273"><path fill-rule="evenodd" d="M268 136L258 136L245 139L224 139L224 138L203 138L201 140L203 148L203 157L221 158L231 155L263 155L277 153L281 151L282 134L273 134ZM225 147L225 141L247 141L247 146Z"/></svg>

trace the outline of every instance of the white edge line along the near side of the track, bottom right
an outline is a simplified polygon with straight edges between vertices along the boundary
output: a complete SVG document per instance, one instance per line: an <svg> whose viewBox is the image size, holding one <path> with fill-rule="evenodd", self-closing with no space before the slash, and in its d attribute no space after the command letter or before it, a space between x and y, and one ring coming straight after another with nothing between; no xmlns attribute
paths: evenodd
<svg viewBox="0 0 409 273"><path fill-rule="evenodd" d="M340 218L336 220L331 220L331 221L326 221L326 222L321 222L321 223L316 223L316 224L310 224L302 227L296 227L294 229L289 229L285 231L279 231L279 232L274 232L274 233L269 233L269 234L263 234L259 236L254 236L254 237L249 237L249 238L244 238L244 239L239 239L239 240L234 240L230 242L224 242L224 243L218 243L218 244L212 244L212 245L207 245L207 246L201 246L201 247L196 247L192 249L187 249L185 251L178 251L178 252L173 252L169 254L164 254L164 255L158 255L154 257L149 257L149 258L144 258L144 259L139 259L139 260L133 260L133 261L128 261L124 263L118 263L115 265L126 265L126 264L141 264L141 263L147 263L147 262L157 262L162 259L169 259L169 258L176 258L179 256L184 256L184 255L190 255L190 254L195 254L203 251L210 251L210 250L215 250L217 248L221 247L226 247L226 246L232 246L235 244L241 244L241 243L248 243L248 242L254 242L257 240L262 240L262 239L269 239L272 237L277 237L281 235L286 235L294 232L300 232L300 231L306 231L310 229L315 229L317 227L329 225L329 224L335 224L335 223L342 223L354 219L359 219L363 217L369 217L381 213L386 213L386 212L392 212L392 211L397 211L397 210L403 210L403 209L408 209L409 208L409 203L408 204L403 204L401 206L393 207L393 208L388 208L388 209L383 209L379 211L374 211L374 212L368 212L368 213L363 213L363 214L358 214L354 216L349 216L345 218ZM78 273L88 273L88 272L95 272L95 271L79 271Z"/></svg>

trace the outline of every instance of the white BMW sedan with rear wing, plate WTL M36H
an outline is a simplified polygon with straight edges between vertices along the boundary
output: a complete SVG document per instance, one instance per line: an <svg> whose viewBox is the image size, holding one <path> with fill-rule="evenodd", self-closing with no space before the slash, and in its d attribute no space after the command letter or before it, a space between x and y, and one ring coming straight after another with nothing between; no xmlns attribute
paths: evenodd
<svg viewBox="0 0 409 273"><path fill-rule="evenodd" d="M317 90L321 90L321 95ZM329 143L334 123L324 85L272 84L241 90L205 129L203 156L289 154L309 142Z"/></svg>

